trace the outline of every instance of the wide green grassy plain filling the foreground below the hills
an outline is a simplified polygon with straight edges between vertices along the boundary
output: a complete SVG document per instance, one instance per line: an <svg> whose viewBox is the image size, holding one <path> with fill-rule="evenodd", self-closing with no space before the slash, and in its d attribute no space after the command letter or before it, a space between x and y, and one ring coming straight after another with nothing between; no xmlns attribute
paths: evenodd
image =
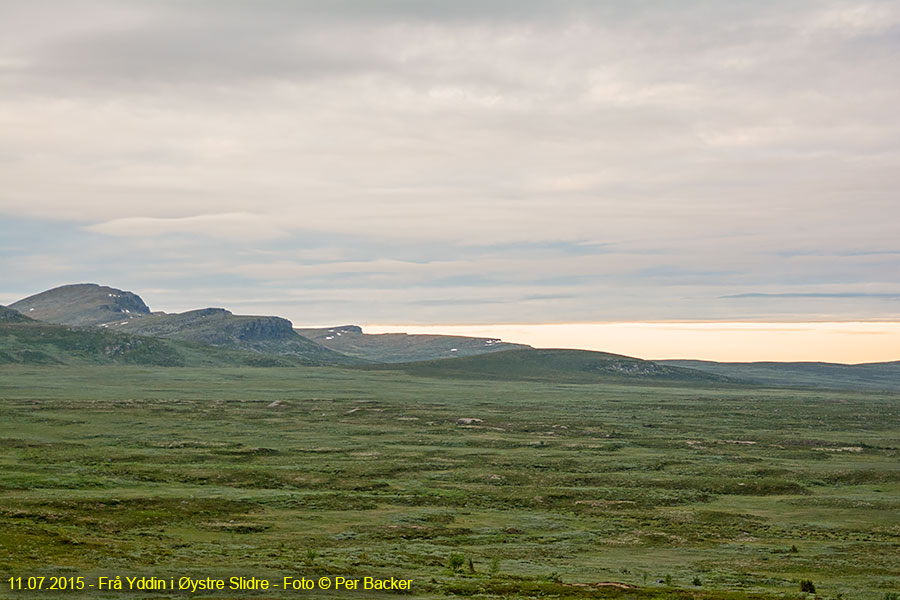
<svg viewBox="0 0 900 600"><path fill-rule="evenodd" d="M2 369L0 595L34 574L394 576L421 598L900 591L898 395ZM637 587L573 585L609 581Z"/></svg>

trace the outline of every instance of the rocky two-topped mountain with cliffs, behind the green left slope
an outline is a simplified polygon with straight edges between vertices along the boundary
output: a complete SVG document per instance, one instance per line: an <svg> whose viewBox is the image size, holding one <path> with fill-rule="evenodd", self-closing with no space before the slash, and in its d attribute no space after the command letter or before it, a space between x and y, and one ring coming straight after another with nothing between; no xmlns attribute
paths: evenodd
<svg viewBox="0 0 900 600"><path fill-rule="evenodd" d="M62 325L96 325L125 333L293 356L305 364L351 365L365 361L329 350L293 330L280 317L234 315L222 308L151 313L132 292L93 283L65 285L10 305L20 313Z"/></svg>

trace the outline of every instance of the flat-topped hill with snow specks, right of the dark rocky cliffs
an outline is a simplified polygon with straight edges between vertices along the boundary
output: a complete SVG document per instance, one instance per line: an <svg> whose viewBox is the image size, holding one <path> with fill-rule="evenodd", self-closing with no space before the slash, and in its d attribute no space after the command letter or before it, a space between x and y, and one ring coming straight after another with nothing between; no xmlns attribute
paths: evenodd
<svg viewBox="0 0 900 600"><path fill-rule="evenodd" d="M402 363L438 358L474 356L488 352L529 348L497 338L458 335L409 335L406 333L363 333L357 325L321 329L297 329L326 348L371 362Z"/></svg>

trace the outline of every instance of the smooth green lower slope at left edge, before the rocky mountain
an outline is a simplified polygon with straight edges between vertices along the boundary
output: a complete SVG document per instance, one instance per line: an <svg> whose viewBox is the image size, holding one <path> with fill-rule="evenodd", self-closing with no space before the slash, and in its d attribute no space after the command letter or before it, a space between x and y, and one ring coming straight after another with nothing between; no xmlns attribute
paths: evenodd
<svg viewBox="0 0 900 600"><path fill-rule="evenodd" d="M0 307L0 364L290 366L289 357L262 356L118 333L100 327L73 327L35 321Z"/></svg>

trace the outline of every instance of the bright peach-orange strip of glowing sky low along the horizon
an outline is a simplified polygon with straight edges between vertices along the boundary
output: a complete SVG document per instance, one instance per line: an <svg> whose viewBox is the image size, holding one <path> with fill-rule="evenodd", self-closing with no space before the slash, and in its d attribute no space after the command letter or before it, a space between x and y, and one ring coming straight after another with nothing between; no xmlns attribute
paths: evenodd
<svg viewBox="0 0 900 600"><path fill-rule="evenodd" d="M645 322L519 325L365 325L366 333L495 337L536 348L577 348L645 359L720 362L900 360L900 322Z"/></svg>

